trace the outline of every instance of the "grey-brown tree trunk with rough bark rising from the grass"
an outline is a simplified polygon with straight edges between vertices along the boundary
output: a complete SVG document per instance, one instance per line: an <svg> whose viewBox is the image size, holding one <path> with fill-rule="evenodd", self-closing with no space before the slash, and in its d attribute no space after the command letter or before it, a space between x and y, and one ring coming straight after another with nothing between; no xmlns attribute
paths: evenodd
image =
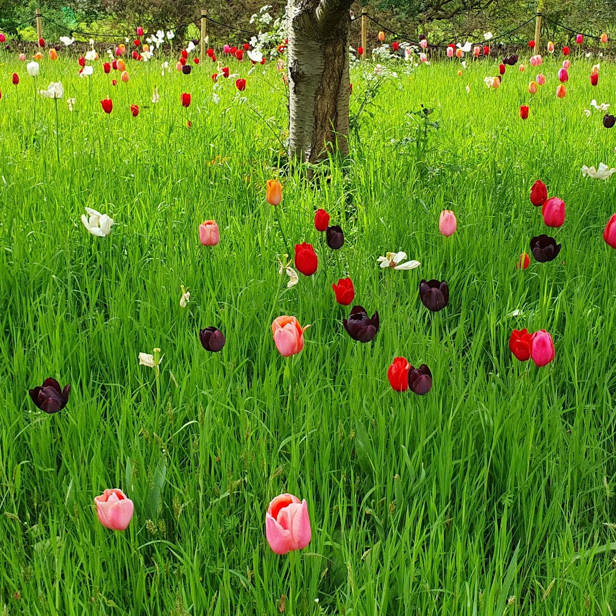
<svg viewBox="0 0 616 616"><path fill-rule="evenodd" d="M291 160L349 153L352 1L288 0Z"/></svg>

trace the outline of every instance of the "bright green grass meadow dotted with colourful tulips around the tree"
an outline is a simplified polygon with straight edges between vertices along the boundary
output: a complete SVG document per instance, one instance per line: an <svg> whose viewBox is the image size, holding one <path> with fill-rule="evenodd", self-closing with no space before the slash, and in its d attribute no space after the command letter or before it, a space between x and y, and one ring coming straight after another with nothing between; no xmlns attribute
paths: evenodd
<svg viewBox="0 0 616 616"><path fill-rule="evenodd" d="M0 50L2 615L616 614L616 67L384 43Z"/></svg>

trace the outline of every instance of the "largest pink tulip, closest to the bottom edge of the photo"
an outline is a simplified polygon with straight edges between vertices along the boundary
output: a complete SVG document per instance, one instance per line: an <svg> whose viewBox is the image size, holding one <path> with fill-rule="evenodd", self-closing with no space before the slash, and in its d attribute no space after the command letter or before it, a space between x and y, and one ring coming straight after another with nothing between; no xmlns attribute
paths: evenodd
<svg viewBox="0 0 616 616"><path fill-rule="evenodd" d="M270 503L265 514L265 537L276 554L305 548L312 539L306 500L281 494Z"/></svg>

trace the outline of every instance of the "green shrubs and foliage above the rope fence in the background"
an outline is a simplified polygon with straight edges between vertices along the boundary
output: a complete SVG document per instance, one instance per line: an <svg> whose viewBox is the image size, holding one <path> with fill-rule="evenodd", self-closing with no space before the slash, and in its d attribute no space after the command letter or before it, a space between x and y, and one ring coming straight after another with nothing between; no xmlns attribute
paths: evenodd
<svg viewBox="0 0 616 616"><path fill-rule="evenodd" d="M588 33L616 30L616 0L544 2L546 17L572 30ZM0 30L12 36L31 37L32 28L28 29L27 25L18 32L12 26L28 20L38 7L69 30L90 30L94 25L95 31L119 29L124 32L132 31L137 23L150 29L169 26L177 30L186 23L197 26L201 9L208 9L214 20L251 30L249 19L263 4L264 0L0 0ZM274 0L269 4L272 6L270 13L280 15L286 2ZM365 0L365 6L371 17L389 30L413 37L427 34L434 43L480 37L486 30L503 33L533 17L537 10L535 0ZM355 2L353 8L359 15L360 2ZM60 26L46 23L46 37L53 40L67 34ZM379 28L377 23L370 22L370 35L374 36ZM233 33L216 23L211 23L209 31L214 39L239 40L248 36L237 31ZM179 34L184 34L182 28ZM572 34L545 22L544 37L564 42ZM526 44L532 35L530 23L511 34L506 42ZM359 20L354 23L353 42L359 42Z"/></svg>

